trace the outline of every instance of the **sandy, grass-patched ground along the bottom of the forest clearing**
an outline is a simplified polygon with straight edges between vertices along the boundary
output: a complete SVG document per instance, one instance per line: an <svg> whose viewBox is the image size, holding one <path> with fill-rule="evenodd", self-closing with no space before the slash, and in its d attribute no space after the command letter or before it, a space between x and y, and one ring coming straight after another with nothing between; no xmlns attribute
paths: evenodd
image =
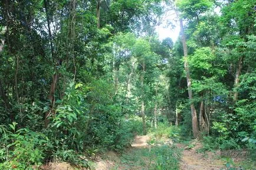
<svg viewBox="0 0 256 170"><path fill-rule="evenodd" d="M151 138L152 136L149 135L136 136L131 147L127 148L122 154L110 151L97 156L97 159L94 159L92 170L224 170L228 169L225 168L227 159L223 158L224 155L231 157L234 162L238 163L244 161L247 153L246 151L200 152L202 145L197 140L185 145L174 144L168 138L163 138L162 142L152 142ZM169 150L166 151L166 149ZM170 155L175 158L166 159L162 155ZM169 161L167 164L172 165L164 165L166 161ZM76 170L77 168L62 162L45 166L45 169L42 166L42 169Z"/></svg>

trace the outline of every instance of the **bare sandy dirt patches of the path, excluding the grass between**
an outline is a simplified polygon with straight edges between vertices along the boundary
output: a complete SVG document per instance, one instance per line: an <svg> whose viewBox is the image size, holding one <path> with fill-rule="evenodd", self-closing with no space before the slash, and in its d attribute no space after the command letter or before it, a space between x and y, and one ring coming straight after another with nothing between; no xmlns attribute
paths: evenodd
<svg viewBox="0 0 256 170"><path fill-rule="evenodd" d="M145 136L136 136L134 142L132 143L131 151L136 149L149 148L147 141L150 137ZM180 160L180 169L181 170L219 170L224 168L224 162L216 158L215 154L208 152L206 154L199 154L196 152L198 148L201 147L201 144L196 143L195 146L191 149L186 149L185 145L176 144L178 148L184 149L182 151L182 159ZM115 154L114 152L107 153L107 159L101 159L96 164L96 170L110 170L117 169L123 170L126 169L122 166L115 166L120 164L120 155ZM142 168L142 167L140 167ZM143 168L144 169L144 168ZM138 169L140 170L140 169Z"/></svg>

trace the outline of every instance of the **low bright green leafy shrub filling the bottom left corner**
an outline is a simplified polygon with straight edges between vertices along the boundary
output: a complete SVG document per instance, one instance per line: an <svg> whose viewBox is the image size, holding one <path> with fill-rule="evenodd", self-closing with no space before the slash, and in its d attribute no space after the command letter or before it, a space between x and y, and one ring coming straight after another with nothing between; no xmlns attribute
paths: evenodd
<svg viewBox="0 0 256 170"><path fill-rule="evenodd" d="M48 146L48 138L29 129L16 128L17 123L0 127L0 169L32 169L42 165ZM33 166L34 165L34 166Z"/></svg>

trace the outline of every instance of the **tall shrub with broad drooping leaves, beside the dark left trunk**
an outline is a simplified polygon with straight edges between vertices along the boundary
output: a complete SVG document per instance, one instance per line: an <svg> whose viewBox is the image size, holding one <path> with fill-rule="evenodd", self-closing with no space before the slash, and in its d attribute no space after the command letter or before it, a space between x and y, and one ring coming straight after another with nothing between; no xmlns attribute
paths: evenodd
<svg viewBox="0 0 256 170"><path fill-rule="evenodd" d="M62 101L57 101L56 114L45 131L53 142L53 152L71 149L83 152L86 141L87 105L83 94L77 91L81 84L71 83ZM57 135L56 135L57 134Z"/></svg>

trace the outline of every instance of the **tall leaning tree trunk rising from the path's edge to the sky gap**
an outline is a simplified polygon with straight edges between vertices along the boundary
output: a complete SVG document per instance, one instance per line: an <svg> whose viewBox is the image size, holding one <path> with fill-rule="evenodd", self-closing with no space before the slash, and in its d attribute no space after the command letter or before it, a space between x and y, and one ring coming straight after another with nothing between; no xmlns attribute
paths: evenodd
<svg viewBox="0 0 256 170"><path fill-rule="evenodd" d="M184 68L186 71L186 81L188 85L188 95L189 95L189 100L191 102L191 116L192 116L192 130L193 130L193 137L197 138L199 134L199 129L198 129L198 119L196 116L196 109L193 104L193 95L192 95L192 89L191 89L191 78L189 75L189 64L188 64L188 49L186 46L186 38L185 38L185 33L184 33L184 28L183 28L183 21L180 18L180 33L182 35L182 45L183 45L183 52L184 52Z"/></svg>

